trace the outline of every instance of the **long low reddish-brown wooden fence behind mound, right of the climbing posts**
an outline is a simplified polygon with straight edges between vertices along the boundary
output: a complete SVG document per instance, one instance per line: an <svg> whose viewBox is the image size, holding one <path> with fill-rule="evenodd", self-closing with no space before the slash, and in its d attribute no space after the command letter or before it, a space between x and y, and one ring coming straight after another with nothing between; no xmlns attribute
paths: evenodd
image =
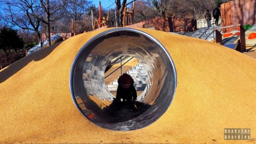
<svg viewBox="0 0 256 144"><path fill-rule="evenodd" d="M145 20L140 23L135 23L129 26L129 28L149 28L156 29L165 32L177 32L180 27L192 20L192 22L187 24L187 30L192 32L196 29L196 20L188 18L176 18L176 17L155 17L151 20ZM185 30L185 27L181 29L181 32Z"/></svg>

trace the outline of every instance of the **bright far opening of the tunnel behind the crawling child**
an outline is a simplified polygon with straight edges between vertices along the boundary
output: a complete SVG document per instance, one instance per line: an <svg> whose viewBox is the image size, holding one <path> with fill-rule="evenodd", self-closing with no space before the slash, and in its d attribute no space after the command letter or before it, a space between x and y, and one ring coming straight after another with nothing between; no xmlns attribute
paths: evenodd
<svg viewBox="0 0 256 144"><path fill-rule="evenodd" d="M147 71L144 64L135 57L122 55L113 58L108 66L106 66L104 74L105 85L113 97L116 96L118 79L123 73L130 75L133 79L133 86L138 96L137 101L141 101L151 86L150 75L148 75L149 71Z"/></svg>

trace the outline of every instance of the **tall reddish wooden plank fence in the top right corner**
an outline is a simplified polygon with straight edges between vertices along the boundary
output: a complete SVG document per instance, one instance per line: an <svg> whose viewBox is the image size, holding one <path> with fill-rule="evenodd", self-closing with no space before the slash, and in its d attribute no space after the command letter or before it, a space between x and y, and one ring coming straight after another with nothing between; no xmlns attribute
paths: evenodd
<svg viewBox="0 0 256 144"><path fill-rule="evenodd" d="M234 0L221 4L222 26L256 23L256 0ZM232 31L228 28L226 31Z"/></svg>

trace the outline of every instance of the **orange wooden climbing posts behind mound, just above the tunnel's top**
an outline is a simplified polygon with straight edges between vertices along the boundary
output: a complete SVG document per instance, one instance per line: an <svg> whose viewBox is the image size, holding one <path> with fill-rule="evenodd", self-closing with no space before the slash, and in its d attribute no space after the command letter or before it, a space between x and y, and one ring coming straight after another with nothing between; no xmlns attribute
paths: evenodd
<svg viewBox="0 0 256 144"><path fill-rule="evenodd" d="M134 23L134 7L135 1L132 3L132 9L130 12L128 8L125 6L123 11L123 26L132 25Z"/></svg>

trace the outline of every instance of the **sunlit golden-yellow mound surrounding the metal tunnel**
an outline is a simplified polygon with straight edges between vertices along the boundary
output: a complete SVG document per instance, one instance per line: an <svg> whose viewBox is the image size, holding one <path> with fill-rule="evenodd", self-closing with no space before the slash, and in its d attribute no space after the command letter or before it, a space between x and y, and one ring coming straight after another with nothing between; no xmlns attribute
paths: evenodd
<svg viewBox="0 0 256 144"><path fill-rule="evenodd" d="M168 111L150 126L128 132L87 121L70 95L70 69L84 43L105 30L71 37L0 71L0 143L224 143L224 128L250 128L250 142L256 142L256 60L205 40L150 29L140 30L166 47L177 70Z"/></svg>

